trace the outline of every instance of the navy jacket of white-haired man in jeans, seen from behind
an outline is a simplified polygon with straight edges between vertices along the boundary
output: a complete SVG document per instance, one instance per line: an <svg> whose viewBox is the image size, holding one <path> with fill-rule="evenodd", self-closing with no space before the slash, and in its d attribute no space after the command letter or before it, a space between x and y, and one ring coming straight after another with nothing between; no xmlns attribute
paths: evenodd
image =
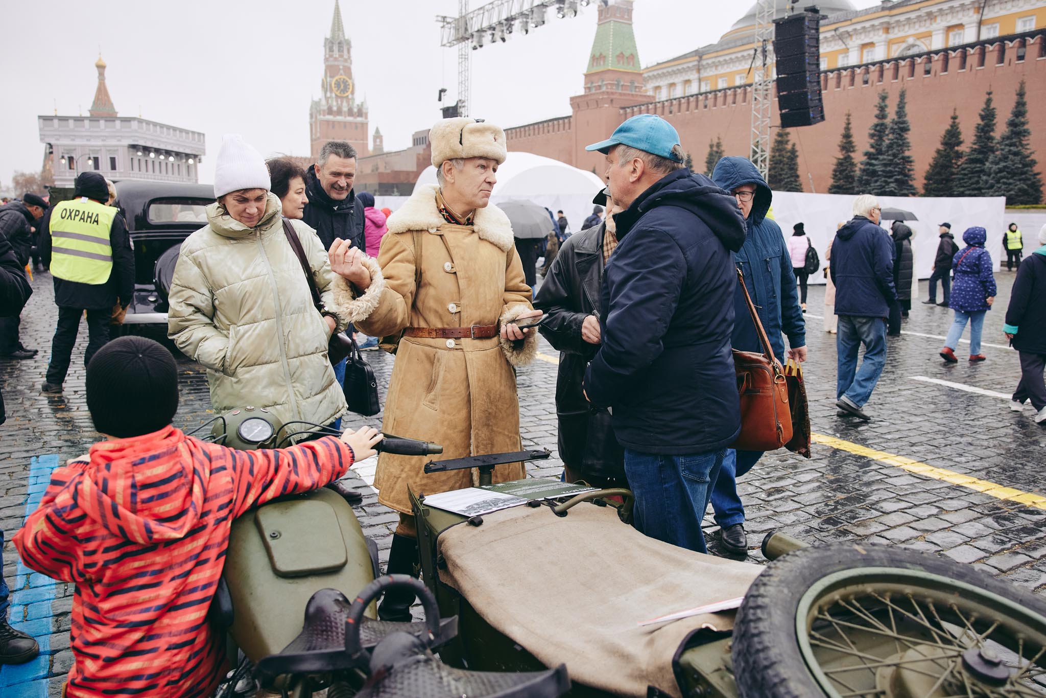
<svg viewBox="0 0 1046 698"><path fill-rule="evenodd" d="M836 232L828 267L836 285L836 315L889 317L893 288L893 239L864 216Z"/></svg>

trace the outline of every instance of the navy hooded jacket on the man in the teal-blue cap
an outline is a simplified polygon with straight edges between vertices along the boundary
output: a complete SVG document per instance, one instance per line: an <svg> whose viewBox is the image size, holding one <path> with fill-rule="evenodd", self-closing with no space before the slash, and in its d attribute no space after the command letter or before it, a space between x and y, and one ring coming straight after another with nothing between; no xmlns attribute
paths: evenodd
<svg viewBox="0 0 1046 698"><path fill-rule="evenodd" d="M614 217L618 245L601 289L602 344L588 399L613 407L624 448L688 455L741 431L730 333L745 242L737 202L686 168L661 178Z"/></svg>

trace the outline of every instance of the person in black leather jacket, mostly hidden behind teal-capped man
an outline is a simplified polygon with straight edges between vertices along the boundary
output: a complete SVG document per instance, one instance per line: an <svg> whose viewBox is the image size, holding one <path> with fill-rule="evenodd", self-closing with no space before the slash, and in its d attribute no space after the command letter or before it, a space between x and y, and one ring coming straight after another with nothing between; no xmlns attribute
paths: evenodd
<svg viewBox="0 0 1046 698"><path fill-rule="evenodd" d="M614 437L610 412L593 407L582 392L585 368L599 348L599 282L611 252L617 246L606 189L593 200L608 206L606 222L571 235L563 247L533 300L545 313L539 329L560 351L555 383L555 411L560 422L560 457L568 482L585 480L600 488L628 487L624 453Z"/></svg>

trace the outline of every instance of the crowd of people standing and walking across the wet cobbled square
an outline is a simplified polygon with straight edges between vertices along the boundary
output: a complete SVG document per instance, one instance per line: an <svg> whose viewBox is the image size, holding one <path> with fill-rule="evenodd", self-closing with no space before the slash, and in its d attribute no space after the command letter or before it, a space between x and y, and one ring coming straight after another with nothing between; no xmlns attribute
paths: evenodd
<svg viewBox="0 0 1046 698"><path fill-rule="evenodd" d="M535 358L540 332L562 353L564 479L628 487L640 532L700 553L710 504L725 550L747 551L736 480L764 453L733 447L743 428L733 352L808 359L806 282L819 260L803 224L784 237L769 216L773 193L748 159L724 157L711 177L691 173L676 130L635 116L588 147L606 157L607 186L583 229L570 234L563 211L549 211L535 294L507 217L490 205L507 157L504 132L450 118L429 142L437 184L387 216L372 196L356 194L346 142L327 142L303 170L266 161L238 136L223 140L215 202L175 267L168 336L206 367L215 412L253 405L279 423L331 427L286 450L245 454L187 436L172 426L179 396L170 353L140 337L108 341L131 299L134 255L100 176L82 174L74 199L52 208L25 197L14 209L21 220L0 209L0 316L17 318L31 293L21 221L39 223L42 264L54 277L59 320L45 391L62 390L83 315L89 327L87 404L104 441L54 471L14 540L28 567L77 584L66 695L213 691L225 669L221 638L195 609L214 593L232 519L337 480L382 437L367 428L323 435L340 431L347 412L345 360L334 348L342 333L382 338L395 354L383 429L458 458L521 449L516 370ZM911 229L895 223L887 233L871 195L858 196L851 212L825 252L835 319L825 331L837 332L839 415L867 421L886 336L910 310ZM968 323L970 360L985 358L981 329L997 293L985 239L971 227L965 247L953 250L951 226L940 226L930 301L940 280L955 314L946 361L957 360ZM1030 401L1044 422L1046 227L1039 241L1020 262L1005 333L1022 367L1011 407ZM17 321L0 327L17 342ZM378 459L379 501L400 515L389 573L415 573L409 492L472 485L468 470L424 474L424 461ZM495 482L524 476L519 463L493 473ZM128 593L146 577L154 591ZM409 621L413 602L412 591L390 590L379 616ZM0 587L0 618L5 604ZM170 635L179 641L165 641ZM0 622L0 663L35 653L31 637ZM131 656L150 657L155 670L129 666Z"/></svg>

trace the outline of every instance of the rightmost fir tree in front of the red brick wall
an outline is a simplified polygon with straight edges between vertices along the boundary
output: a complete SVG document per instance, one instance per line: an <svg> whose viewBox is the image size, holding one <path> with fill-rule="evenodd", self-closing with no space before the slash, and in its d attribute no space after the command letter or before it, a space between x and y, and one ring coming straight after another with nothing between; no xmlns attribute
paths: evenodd
<svg viewBox="0 0 1046 698"><path fill-rule="evenodd" d="M1036 159L1028 145L1028 102L1024 81L1017 88L1017 102L1006 119L1006 130L999 136L988 160L990 186L984 196L1006 197L1007 206L1038 204L1043 199L1043 182L1036 171Z"/></svg>

